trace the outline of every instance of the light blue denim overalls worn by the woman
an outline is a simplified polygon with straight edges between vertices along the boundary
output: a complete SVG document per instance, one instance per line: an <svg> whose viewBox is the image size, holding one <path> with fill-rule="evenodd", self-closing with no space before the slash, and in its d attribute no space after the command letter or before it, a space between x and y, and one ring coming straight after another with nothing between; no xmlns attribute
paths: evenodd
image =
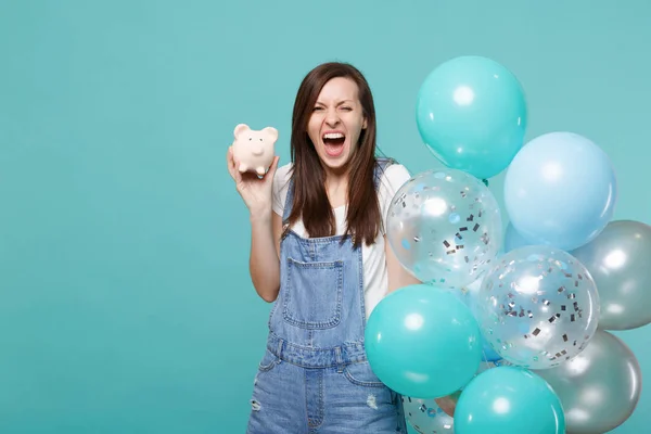
<svg viewBox="0 0 651 434"><path fill-rule="evenodd" d="M378 163L375 189L392 161ZM290 184L285 225L292 200ZM407 433L400 396L367 360L365 326L361 246L349 235L305 239L290 230L246 433Z"/></svg>

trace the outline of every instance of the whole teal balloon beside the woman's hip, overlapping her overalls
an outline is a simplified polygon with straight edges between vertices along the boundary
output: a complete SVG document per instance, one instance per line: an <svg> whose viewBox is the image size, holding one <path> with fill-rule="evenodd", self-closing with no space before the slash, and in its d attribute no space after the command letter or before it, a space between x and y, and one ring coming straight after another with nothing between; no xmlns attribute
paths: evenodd
<svg viewBox="0 0 651 434"><path fill-rule="evenodd" d="M426 284L384 297L369 317L365 341L380 381L413 398L460 390L482 360L481 332L471 310L451 292Z"/></svg>

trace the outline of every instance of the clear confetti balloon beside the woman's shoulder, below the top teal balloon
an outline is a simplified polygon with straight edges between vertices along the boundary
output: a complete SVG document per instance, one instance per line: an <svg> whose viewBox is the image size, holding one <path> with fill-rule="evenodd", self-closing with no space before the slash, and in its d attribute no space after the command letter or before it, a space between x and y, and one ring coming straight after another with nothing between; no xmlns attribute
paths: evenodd
<svg viewBox="0 0 651 434"><path fill-rule="evenodd" d="M396 192L386 234L403 266L422 282L461 288L495 260L499 205L488 188L457 169L421 173Z"/></svg>

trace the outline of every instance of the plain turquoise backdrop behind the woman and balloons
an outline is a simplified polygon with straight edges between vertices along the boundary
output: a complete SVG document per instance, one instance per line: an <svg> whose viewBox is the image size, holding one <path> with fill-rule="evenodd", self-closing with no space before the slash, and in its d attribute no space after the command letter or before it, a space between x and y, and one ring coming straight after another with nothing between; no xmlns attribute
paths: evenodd
<svg viewBox="0 0 651 434"><path fill-rule="evenodd" d="M612 157L616 219L651 222L651 3L3 1L0 432L242 433L269 305L226 170L238 123L280 130L320 62L353 62L382 150L437 167L416 94L447 59L492 58L527 93L527 140ZM490 182L502 202L503 173ZM617 333L651 379L651 329ZM651 397L617 433L646 432Z"/></svg>

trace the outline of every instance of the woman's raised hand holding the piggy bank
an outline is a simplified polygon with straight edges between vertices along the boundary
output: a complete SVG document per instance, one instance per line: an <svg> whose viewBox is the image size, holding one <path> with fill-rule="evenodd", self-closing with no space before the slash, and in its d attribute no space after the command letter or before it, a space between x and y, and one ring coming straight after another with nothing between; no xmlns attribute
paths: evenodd
<svg viewBox="0 0 651 434"><path fill-rule="evenodd" d="M271 212L271 189L273 186L273 175L278 168L278 159L279 157L275 156L267 174L259 178L253 173L241 174L240 170L238 170L240 164L233 157L232 146L229 146L226 155L228 171L235 181L238 193L240 193L242 200L244 200L244 203L252 215Z"/></svg>

